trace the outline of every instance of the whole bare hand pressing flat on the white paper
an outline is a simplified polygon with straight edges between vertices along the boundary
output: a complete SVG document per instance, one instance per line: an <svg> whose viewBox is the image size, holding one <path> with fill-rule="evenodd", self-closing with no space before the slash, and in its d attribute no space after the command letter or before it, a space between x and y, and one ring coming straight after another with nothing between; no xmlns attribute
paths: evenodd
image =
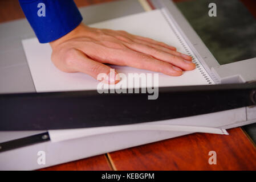
<svg viewBox="0 0 256 182"><path fill-rule="evenodd" d="M105 64L148 69L170 76L180 76L182 70L196 67L192 57L167 44L125 31L91 28L82 23L50 45L51 59L58 69L83 72L94 78L100 73L109 74L111 68ZM103 81L112 83L115 78L105 79Z"/></svg>

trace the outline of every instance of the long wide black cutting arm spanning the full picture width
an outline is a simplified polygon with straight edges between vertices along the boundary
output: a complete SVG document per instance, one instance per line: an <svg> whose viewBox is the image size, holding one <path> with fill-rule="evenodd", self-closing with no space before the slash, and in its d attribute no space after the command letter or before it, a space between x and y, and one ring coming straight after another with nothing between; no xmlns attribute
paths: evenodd
<svg viewBox="0 0 256 182"><path fill-rule="evenodd" d="M255 105L256 83L159 88L148 94L79 92L0 95L0 131L125 125Z"/></svg>

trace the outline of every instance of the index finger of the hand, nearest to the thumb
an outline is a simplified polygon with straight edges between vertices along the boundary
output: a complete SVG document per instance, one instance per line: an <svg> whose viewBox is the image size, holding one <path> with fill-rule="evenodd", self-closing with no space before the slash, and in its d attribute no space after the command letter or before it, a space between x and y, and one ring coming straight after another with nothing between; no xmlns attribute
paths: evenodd
<svg viewBox="0 0 256 182"><path fill-rule="evenodd" d="M117 62L125 63L128 67L147 69L149 71L161 72L170 76L182 75L182 69L175 67L172 64L129 49L123 52L116 52L116 59L119 59Z"/></svg>

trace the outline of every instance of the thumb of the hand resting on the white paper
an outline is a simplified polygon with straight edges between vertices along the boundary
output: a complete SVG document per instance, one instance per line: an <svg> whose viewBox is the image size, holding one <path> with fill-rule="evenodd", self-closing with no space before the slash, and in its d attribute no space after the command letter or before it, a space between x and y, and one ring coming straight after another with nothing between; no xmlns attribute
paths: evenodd
<svg viewBox="0 0 256 182"><path fill-rule="evenodd" d="M68 53L65 63L66 67L76 72L86 73L96 80L104 81L107 84L116 84L120 81L117 73L113 72L110 67L90 59L83 52L75 49Z"/></svg>

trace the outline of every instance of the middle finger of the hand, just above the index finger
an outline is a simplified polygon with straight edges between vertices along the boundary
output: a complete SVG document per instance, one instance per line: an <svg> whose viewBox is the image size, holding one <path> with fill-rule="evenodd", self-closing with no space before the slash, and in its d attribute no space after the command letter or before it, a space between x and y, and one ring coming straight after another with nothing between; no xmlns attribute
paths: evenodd
<svg viewBox="0 0 256 182"><path fill-rule="evenodd" d="M192 61L185 60L180 56L174 56L170 53L161 51L160 49L152 48L152 47L149 47L143 44L137 44L137 43L124 43L124 44L125 46L127 46L128 48L131 48L134 51L139 51L141 53L155 57L157 60L162 60L162 61L171 63L183 70L189 71L196 68L196 65L192 63Z"/></svg>

